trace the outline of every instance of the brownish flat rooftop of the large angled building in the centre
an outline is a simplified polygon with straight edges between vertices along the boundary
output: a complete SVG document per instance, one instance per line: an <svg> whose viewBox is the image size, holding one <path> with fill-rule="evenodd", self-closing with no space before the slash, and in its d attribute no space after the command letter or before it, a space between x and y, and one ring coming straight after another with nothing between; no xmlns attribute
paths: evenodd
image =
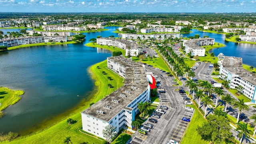
<svg viewBox="0 0 256 144"><path fill-rule="evenodd" d="M109 122L124 109L132 111L133 108L127 106L148 88L148 80L142 65L122 56L109 59L126 67L124 85L82 112L106 122ZM102 114L98 110L104 113Z"/></svg>

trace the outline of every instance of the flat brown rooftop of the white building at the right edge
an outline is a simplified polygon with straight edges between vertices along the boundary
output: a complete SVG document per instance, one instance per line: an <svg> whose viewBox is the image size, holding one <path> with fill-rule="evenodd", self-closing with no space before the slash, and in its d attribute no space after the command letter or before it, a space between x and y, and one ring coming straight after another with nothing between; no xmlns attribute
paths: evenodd
<svg viewBox="0 0 256 144"><path fill-rule="evenodd" d="M242 58L234 56L224 56L222 66L229 70L232 74L238 74L239 77L256 85L256 74L243 68Z"/></svg>

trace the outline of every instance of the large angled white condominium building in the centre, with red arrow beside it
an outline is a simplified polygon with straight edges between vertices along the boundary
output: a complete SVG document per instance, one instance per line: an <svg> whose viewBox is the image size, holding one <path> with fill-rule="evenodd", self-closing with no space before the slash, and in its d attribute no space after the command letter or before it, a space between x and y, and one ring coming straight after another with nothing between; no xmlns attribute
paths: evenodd
<svg viewBox="0 0 256 144"><path fill-rule="evenodd" d="M108 58L108 68L124 78L124 85L83 112L82 129L104 138L102 130L112 125L118 132L124 125L132 128L139 113L138 103L150 100L150 86L142 65L122 56Z"/></svg>

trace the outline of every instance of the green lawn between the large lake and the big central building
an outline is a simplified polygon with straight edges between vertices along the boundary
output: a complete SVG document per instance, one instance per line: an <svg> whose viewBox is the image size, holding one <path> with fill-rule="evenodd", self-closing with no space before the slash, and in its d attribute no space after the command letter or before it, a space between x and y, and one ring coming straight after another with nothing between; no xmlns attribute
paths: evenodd
<svg viewBox="0 0 256 144"><path fill-rule="evenodd" d="M100 69L97 68L100 67ZM95 85L97 86L90 96L90 100L81 102L80 106L70 110L69 114L66 114L64 118L55 122L51 126L39 130L31 135L21 136L17 140L11 142L2 142L8 144L61 144L66 136L71 136L71 141L73 144L80 144L82 142L93 142L94 144L101 144L102 140L89 136L79 131L82 127L81 114L80 112L89 107L91 102L97 102L102 99L104 96L115 91L117 88L120 88L123 85L123 78L118 76L118 74L112 72L107 66L107 60L103 62L94 64L90 68L90 73L92 78L95 80ZM103 75L102 71L105 71L107 74ZM109 81L108 76L111 76L113 80ZM107 84L112 84L114 88L108 88ZM72 118L77 120L77 123L68 125L66 120Z"/></svg>

